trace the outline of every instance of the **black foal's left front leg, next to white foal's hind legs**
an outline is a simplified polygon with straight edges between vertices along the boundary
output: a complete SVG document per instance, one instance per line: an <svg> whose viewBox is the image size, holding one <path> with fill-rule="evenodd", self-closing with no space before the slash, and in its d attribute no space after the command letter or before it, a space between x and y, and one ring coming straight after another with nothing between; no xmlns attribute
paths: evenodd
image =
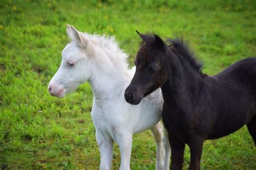
<svg viewBox="0 0 256 170"><path fill-rule="evenodd" d="M171 145L171 167L170 169L182 169L184 160L185 144L176 137L169 134L169 142Z"/></svg>

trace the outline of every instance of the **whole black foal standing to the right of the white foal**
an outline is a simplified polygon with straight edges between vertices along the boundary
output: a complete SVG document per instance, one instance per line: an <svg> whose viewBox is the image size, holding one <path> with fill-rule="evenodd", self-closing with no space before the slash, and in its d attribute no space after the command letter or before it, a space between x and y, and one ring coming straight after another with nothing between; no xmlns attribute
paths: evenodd
<svg viewBox="0 0 256 170"><path fill-rule="evenodd" d="M191 153L189 169L200 169L204 140L224 137L244 125L256 145L256 58L240 60L208 77L181 40L167 46L156 35L139 35L144 45L125 98L138 104L161 87L172 169L182 169L185 144Z"/></svg>

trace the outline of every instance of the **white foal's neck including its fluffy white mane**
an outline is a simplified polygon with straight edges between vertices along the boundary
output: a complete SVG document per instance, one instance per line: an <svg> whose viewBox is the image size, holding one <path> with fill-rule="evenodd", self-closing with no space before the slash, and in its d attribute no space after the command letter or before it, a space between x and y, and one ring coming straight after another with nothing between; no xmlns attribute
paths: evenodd
<svg viewBox="0 0 256 170"><path fill-rule="evenodd" d="M86 34L86 33L85 33ZM99 35L87 35L102 52L95 56L95 66L89 80L93 95L97 100L106 100L116 95L120 95L128 76L128 66L126 59L128 55L119 49L114 37ZM96 52L97 54L97 52Z"/></svg>

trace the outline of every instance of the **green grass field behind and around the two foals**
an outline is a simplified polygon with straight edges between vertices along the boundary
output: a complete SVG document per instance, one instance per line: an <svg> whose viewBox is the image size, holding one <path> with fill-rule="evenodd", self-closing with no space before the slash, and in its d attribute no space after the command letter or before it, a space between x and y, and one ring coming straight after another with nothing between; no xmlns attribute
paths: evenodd
<svg viewBox="0 0 256 170"><path fill-rule="evenodd" d="M99 151L88 83L59 99L47 90L69 42L66 24L116 36L130 54L135 30L161 37L183 35L204 72L220 72L255 56L256 2L247 1L5 1L0 2L0 166L8 169L98 169ZM134 136L132 169L154 169L150 131ZM113 169L120 165L114 146ZM190 161L186 147L185 168ZM246 127L206 141L202 169L256 169L256 147ZM0 167L0 168L1 168Z"/></svg>

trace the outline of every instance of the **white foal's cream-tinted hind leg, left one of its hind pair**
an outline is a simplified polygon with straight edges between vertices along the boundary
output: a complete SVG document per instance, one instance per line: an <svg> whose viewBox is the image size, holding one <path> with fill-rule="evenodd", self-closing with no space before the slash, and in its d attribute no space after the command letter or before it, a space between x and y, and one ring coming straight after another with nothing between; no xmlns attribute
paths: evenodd
<svg viewBox="0 0 256 170"><path fill-rule="evenodd" d="M164 169L163 126L159 122L158 124L154 125L150 130L153 134L154 140L156 141L156 169Z"/></svg>

